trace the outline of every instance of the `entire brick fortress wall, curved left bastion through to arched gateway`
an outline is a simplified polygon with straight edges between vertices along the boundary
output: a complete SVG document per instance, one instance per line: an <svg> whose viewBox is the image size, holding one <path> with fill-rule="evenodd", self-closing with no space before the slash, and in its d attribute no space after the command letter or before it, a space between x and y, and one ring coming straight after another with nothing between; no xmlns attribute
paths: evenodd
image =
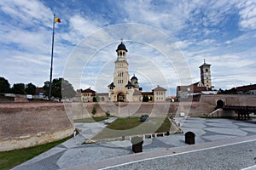
<svg viewBox="0 0 256 170"><path fill-rule="evenodd" d="M216 107L218 99L225 105L256 106L256 95L201 95L200 102L174 103L0 103L0 151L14 150L63 139L73 133L73 119L95 116L205 116ZM219 113L226 116L226 112ZM229 113L236 116L234 112ZM70 120L70 117L72 120Z"/></svg>

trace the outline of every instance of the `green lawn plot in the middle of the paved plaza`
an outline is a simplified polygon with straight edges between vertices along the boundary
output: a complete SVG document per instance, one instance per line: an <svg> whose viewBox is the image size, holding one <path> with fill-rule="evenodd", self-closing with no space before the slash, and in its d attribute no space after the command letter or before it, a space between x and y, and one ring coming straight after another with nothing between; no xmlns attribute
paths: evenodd
<svg viewBox="0 0 256 170"><path fill-rule="evenodd" d="M140 117L119 118L104 128L92 139L109 139L147 133L164 133L171 128L171 122L164 117L149 117L148 122L140 122Z"/></svg>

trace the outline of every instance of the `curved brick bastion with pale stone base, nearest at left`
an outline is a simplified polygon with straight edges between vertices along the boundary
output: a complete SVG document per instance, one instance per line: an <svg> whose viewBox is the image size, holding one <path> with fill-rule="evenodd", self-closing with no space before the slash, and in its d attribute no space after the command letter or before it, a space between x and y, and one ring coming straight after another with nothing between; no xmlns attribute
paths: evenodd
<svg viewBox="0 0 256 170"><path fill-rule="evenodd" d="M0 104L0 151L45 144L73 134L62 103Z"/></svg>

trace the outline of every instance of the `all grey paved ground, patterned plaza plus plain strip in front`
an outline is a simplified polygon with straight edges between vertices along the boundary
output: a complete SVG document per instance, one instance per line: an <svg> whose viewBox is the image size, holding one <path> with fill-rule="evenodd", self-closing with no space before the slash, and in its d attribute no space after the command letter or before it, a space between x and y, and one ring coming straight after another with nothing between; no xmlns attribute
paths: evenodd
<svg viewBox="0 0 256 170"><path fill-rule="evenodd" d="M76 123L82 133L15 169L241 169L256 165L255 122L196 117L175 121L183 133L144 139L143 153L138 154L131 151L130 140L82 144L106 125ZM193 145L184 143L188 131L195 133Z"/></svg>

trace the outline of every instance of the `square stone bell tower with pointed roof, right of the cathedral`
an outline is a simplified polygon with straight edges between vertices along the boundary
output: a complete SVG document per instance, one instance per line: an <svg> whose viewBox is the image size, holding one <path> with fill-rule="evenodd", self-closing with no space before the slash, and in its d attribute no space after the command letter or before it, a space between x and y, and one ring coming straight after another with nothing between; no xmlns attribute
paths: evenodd
<svg viewBox="0 0 256 170"><path fill-rule="evenodd" d="M211 79L211 65L206 63L206 59L204 59L204 64L201 65L201 83L203 83L204 87L207 87L207 90L212 89L212 79Z"/></svg>

